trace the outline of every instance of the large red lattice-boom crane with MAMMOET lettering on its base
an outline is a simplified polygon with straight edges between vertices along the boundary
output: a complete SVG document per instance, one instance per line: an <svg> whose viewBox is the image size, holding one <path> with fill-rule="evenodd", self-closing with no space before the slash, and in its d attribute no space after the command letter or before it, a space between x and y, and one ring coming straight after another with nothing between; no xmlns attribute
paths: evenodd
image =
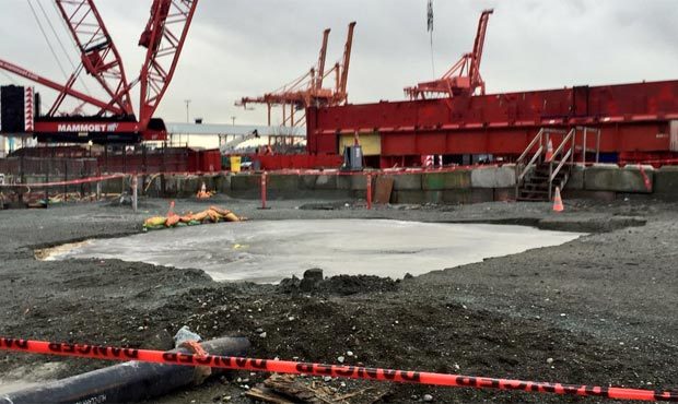
<svg viewBox="0 0 678 404"><path fill-rule="evenodd" d="M147 48L145 60L139 78L131 83L94 0L55 1L81 57L80 66L66 84L0 59L0 69L59 93L49 111L36 115L35 121L26 124L24 132L33 132L38 141L48 142L136 143L166 139L162 119L153 118L153 114L174 75L198 0L153 0L149 22L139 40L139 45ZM106 98L100 99L73 88L83 70L98 82ZM137 83L141 86L139 119L130 95ZM67 96L82 105L94 106L98 111L90 116L59 111ZM32 104L33 99L26 98L25 102Z"/></svg>

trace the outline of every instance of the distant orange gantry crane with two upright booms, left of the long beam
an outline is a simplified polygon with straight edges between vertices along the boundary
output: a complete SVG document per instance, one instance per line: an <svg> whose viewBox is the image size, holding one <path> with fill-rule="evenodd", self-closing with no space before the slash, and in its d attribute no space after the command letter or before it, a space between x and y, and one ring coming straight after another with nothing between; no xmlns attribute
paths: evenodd
<svg viewBox="0 0 678 404"><path fill-rule="evenodd" d="M260 97L243 97L235 105L247 107L248 104L266 104L268 108L268 124L271 126L271 109L276 106L282 107L282 126L303 126L304 117L296 119L294 112L296 110L305 110L309 106L336 106L348 100L347 83L349 80L349 66L351 63L351 49L353 46L353 31L355 22L349 24L348 37L343 49L343 59L341 62L325 71L325 62L327 57L327 41L330 29L323 33L323 45L320 46L320 55L317 66L311 68L308 72L301 78L283 85L272 93L264 94ZM323 87L324 80L335 74L335 88ZM288 115L288 107L290 114Z"/></svg>

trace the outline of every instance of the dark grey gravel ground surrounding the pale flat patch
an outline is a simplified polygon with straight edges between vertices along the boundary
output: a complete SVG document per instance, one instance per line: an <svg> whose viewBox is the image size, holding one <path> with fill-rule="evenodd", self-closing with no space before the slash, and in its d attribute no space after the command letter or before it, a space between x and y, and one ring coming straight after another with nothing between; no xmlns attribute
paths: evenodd
<svg viewBox="0 0 678 404"><path fill-rule="evenodd" d="M336 277L316 290L290 283L215 283L200 269L118 260L39 261L36 248L141 230L140 212L110 203L0 212L0 334L168 349L184 324L206 340L239 335L250 356L642 389L678 389L677 204L654 201L388 206L344 201L178 200L177 211L226 206L250 219L394 218L524 224L589 233L559 247L425 275ZM220 224L214 226L229 226ZM172 231L180 231L175 229ZM347 262L347 265L350 265ZM347 352L352 352L350 356ZM0 353L0 380L58 379L110 363ZM215 377L162 403L249 403L245 384ZM238 381L239 378L239 381ZM325 383L318 379L319 383ZM343 382L343 384L342 384ZM381 402L594 403L600 399L331 380ZM430 396L426 396L430 395ZM361 402L353 395L346 402ZM370 402L363 396L362 402ZM372 400L373 401L373 400Z"/></svg>

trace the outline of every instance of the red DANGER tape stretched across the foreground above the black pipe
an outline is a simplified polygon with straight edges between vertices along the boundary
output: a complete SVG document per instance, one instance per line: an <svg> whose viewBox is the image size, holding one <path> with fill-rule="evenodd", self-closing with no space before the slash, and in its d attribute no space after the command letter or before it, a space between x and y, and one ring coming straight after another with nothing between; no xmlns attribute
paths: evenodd
<svg viewBox="0 0 678 404"><path fill-rule="evenodd" d="M678 402L678 392L652 391L597 385L576 385L423 371L373 369L356 366L305 364L288 360L253 359L231 356L192 355L161 350L116 348L110 346L66 344L0 337L0 349L24 353L77 356L108 360L139 360L168 365L209 366L212 368L268 371L279 373L330 376L337 378L396 381L430 385L476 389L516 390L530 393L597 396L613 400Z"/></svg>

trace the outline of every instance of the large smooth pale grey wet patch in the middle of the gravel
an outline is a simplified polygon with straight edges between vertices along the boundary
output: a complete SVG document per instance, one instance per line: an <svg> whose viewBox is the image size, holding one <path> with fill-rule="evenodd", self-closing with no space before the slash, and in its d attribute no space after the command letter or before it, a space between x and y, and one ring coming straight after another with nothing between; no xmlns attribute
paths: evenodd
<svg viewBox="0 0 678 404"><path fill-rule="evenodd" d="M201 269L215 281L277 283L309 268L325 275L402 277L558 246L582 236L525 226L386 219L253 221L90 240L48 260L120 259Z"/></svg>

